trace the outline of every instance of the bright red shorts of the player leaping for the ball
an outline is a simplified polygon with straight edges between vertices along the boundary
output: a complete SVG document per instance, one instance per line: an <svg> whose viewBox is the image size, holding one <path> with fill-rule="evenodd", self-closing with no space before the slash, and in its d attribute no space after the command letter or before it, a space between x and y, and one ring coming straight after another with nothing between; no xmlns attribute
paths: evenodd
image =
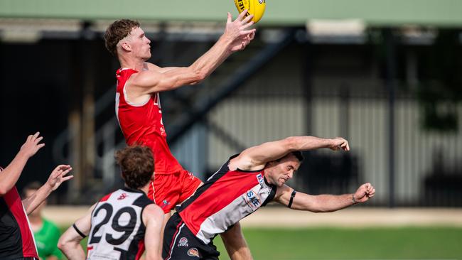
<svg viewBox="0 0 462 260"><path fill-rule="evenodd" d="M177 173L154 173L154 182L149 185L149 199L168 213L195 193L202 181L188 170ZM154 196L153 196L154 195Z"/></svg>

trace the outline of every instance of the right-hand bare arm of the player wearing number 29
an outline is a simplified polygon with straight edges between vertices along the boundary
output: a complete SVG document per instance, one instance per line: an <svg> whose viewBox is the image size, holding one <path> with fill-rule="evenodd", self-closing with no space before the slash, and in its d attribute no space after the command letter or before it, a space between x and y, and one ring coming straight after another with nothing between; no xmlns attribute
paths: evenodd
<svg viewBox="0 0 462 260"><path fill-rule="evenodd" d="M163 210L157 205L146 206L141 216L146 226L144 244L146 245L146 260L161 260L161 245L163 234Z"/></svg>

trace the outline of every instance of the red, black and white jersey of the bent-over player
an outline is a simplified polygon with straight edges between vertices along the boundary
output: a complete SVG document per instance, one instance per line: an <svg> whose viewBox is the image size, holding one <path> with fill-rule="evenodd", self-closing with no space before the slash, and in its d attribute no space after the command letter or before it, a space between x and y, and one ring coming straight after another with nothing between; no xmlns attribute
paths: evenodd
<svg viewBox="0 0 462 260"><path fill-rule="evenodd" d="M276 186L266 182L264 170L230 170L228 163L230 160L177 210L190 231L205 244L276 195Z"/></svg>

